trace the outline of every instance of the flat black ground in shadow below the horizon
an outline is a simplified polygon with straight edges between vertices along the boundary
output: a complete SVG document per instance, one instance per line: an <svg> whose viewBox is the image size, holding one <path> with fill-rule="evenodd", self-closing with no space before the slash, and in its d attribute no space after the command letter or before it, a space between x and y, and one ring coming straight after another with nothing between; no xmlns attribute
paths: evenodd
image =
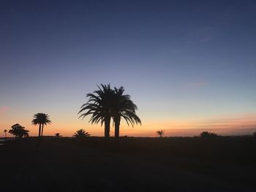
<svg viewBox="0 0 256 192"><path fill-rule="evenodd" d="M31 138L0 155L0 191L256 191L253 137Z"/></svg>

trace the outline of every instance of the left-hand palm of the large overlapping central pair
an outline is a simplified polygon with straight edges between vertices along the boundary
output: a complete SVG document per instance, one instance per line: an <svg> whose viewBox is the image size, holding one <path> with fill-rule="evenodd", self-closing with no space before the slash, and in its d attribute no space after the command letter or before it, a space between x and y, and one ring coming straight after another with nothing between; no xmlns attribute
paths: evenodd
<svg viewBox="0 0 256 192"><path fill-rule="evenodd" d="M89 122L91 123L105 123L105 138L110 137L110 119L111 119L111 106L113 103L113 90L110 88L110 84L102 85L101 88L97 86L99 90L94 93L89 93L86 96L89 97L89 101L80 107L80 112L84 112L79 116L85 118L87 115L91 115Z"/></svg>

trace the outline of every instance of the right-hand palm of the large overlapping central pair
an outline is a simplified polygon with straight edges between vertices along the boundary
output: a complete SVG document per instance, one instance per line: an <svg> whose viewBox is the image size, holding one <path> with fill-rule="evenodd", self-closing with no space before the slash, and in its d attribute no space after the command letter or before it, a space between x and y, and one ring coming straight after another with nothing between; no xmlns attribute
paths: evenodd
<svg viewBox="0 0 256 192"><path fill-rule="evenodd" d="M140 123L140 118L136 115L135 110L137 106L130 99L129 95L123 95L124 87L114 88L113 106L111 108L111 115L113 117L113 124L115 125L115 137L119 137L119 128L121 118L126 120L128 126L129 123L133 125Z"/></svg>

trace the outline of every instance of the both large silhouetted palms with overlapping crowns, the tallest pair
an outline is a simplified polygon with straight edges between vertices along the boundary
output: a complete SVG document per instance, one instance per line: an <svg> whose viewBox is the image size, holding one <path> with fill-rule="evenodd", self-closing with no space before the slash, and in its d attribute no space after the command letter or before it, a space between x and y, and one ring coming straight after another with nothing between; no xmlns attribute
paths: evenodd
<svg viewBox="0 0 256 192"><path fill-rule="evenodd" d="M97 86L99 90L89 93L89 101L80 107L80 112L84 112L79 116L85 118L91 115L89 122L105 123L105 138L110 137L110 120L113 118L113 126L115 126L115 137L119 137L119 128L121 118L126 120L133 126L135 123L141 124L140 118L136 115L137 106L130 99L129 95L123 95L124 87L110 88L110 84Z"/></svg>

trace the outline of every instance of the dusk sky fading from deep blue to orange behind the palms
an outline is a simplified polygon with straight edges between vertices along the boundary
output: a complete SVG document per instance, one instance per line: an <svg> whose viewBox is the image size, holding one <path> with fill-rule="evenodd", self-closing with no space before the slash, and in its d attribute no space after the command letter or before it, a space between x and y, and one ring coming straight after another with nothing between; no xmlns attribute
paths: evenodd
<svg viewBox="0 0 256 192"><path fill-rule="evenodd" d="M121 136L256 131L256 1L1 1L0 137L104 128L78 119L97 85L124 86L142 126ZM113 128L111 128L113 135Z"/></svg>

